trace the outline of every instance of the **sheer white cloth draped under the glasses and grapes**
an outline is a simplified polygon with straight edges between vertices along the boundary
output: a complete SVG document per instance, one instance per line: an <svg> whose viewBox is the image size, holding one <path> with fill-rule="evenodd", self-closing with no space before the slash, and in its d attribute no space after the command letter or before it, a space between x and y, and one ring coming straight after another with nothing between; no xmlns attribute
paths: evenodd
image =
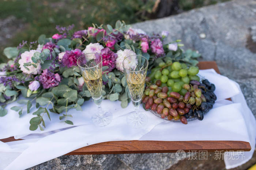
<svg viewBox="0 0 256 170"><path fill-rule="evenodd" d="M8 114L0 117L0 139L15 136L26 140L0 142L0 169L26 169L87 145L124 140L250 142L252 150L245 152L243 159L225 159L227 169L239 166L252 157L255 149L255 118L236 82L217 74L212 69L200 70L199 74L215 84L217 101L203 121L194 120L187 125L162 120L147 112L147 126L132 129L126 123L126 114L133 110L132 104L123 109L118 101L103 100L103 109L112 111L114 115L112 123L106 127L95 127L91 123L90 117L96 106L87 101L82 106L83 111L69 111L73 115L69 120L72 120L75 126L60 122L58 114L51 114L51 121L47 115L44 116L44 131L30 131L29 120L34 115L24 112L19 118L15 111L10 110L12 106L19 104L9 104ZM224 100L229 97L232 97L232 102ZM140 110L144 111L142 107Z"/></svg>

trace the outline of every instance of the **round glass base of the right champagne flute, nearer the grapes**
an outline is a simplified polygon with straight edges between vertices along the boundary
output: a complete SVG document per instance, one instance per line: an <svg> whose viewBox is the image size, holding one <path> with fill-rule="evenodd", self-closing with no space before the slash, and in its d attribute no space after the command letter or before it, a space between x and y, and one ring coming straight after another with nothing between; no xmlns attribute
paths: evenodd
<svg viewBox="0 0 256 170"><path fill-rule="evenodd" d="M147 124L147 116L141 112L130 112L126 118L127 123L133 128L142 128Z"/></svg>

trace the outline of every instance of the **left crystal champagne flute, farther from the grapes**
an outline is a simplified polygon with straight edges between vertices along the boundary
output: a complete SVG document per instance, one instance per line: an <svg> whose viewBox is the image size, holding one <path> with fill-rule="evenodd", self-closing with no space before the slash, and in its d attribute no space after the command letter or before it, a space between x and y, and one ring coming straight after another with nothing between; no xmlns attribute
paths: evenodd
<svg viewBox="0 0 256 170"><path fill-rule="evenodd" d="M104 112L102 102L102 56L98 53L87 53L80 56L77 65L84 82L91 93L94 103L98 106L97 112L91 117L96 126L106 126L112 121L112 113Z"/></svg>

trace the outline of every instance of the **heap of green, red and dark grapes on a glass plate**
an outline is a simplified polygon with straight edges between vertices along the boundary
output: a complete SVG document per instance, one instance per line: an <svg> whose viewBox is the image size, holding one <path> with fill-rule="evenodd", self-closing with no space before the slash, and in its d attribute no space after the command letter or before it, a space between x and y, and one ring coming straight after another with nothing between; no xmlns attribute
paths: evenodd
<svg viewBox="0 0 256 170"><path fill-rule="evenodd" d="M188 118L203 120L204 113L212 108L217 97L214 84L206 79L199 82L197 67L182 65L159 63L159 67L153 68L146 78L148 86L142 102L146 109L157 112L161 118L180 119L187 124Z"/></svg>

